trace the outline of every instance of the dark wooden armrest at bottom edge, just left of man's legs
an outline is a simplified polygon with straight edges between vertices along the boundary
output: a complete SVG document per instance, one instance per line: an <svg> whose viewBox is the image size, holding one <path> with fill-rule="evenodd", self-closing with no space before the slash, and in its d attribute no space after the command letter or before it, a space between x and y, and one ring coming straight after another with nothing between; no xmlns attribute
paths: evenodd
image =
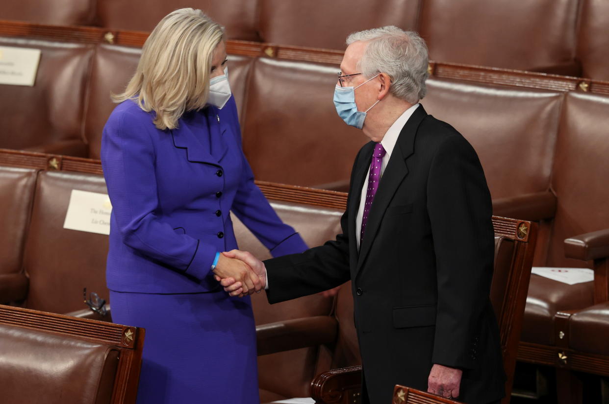
<svg viewBox="0 0 609 404"><path fill-rule="evenodd" d="M355 403L354 399L359 398L361 392L361 366L343 367L323 372L311 382L311 397L317 404Z"/></svg>

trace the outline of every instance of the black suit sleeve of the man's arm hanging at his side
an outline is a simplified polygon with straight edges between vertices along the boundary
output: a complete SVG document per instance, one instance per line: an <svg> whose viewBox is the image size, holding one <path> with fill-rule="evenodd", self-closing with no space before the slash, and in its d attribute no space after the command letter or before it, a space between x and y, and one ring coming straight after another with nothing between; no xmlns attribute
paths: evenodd
<svg viewBox="0 0 609 404"><path fill-rule="evenodd" d="M482 165L460 135L438 148L429 171L428 212L437 268L433 363L471 368L493 276L492 206Z"/></svg>

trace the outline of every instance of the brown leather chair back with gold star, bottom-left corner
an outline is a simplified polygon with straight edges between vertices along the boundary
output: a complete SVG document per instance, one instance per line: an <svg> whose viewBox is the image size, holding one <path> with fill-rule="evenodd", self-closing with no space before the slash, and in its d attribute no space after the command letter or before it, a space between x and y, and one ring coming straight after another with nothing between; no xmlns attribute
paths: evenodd
<svg viewBox="0 0 609 404"><path fill-rule="evenodd" d="M144 329L0 305L2 402L132 404Z"/></svg>

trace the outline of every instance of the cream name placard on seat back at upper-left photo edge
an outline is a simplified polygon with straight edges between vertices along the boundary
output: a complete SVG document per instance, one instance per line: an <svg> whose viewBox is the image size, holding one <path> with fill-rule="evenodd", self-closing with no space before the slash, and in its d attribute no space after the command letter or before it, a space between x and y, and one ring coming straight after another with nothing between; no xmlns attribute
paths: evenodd
<svg viewBox="0 0 609 404"><path fill-rule="evenodd" d="M0 46L0 84L33 86L40 49Z"/></svg>

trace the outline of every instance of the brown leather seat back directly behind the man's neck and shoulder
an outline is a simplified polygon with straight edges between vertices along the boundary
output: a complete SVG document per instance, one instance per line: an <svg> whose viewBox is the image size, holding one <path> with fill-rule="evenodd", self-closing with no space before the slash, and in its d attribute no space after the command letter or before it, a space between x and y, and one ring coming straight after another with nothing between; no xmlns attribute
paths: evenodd
<svg viewBox="0 0 609 404"><path fill-rule="evenodd" d="M432 78L421 103L470 141L498 199L549 189L562 99L559 92Z"/></svg>

